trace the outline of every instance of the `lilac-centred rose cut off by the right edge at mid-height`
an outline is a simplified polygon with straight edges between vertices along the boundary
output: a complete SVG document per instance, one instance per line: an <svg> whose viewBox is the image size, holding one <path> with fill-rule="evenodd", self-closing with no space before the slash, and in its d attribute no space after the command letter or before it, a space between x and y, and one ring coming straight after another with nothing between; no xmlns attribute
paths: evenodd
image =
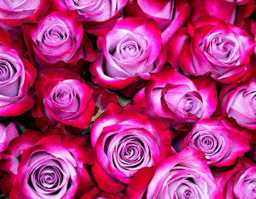
<svg viewBox="0 0 256 199"><path fill-rule="evenodd" d="M240 126L256 129L256 79L245 84L226 85L220 91L216 114L234 118Z"/></svg>

